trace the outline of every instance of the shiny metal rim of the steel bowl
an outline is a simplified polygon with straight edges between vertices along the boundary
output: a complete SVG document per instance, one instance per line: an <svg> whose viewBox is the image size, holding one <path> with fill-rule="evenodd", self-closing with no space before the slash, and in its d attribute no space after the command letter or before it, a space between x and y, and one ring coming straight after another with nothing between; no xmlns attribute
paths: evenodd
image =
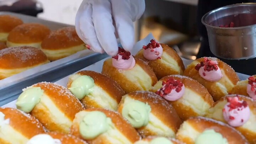
<svg viewBox="0 0 256 144"><path fill-rule="evenodd" d="M215 11L218 11L218 10L222 10L222 9L227 9L227 8L230 8L230 7L233 7L234 5L256 5L255 2L250 2L250 3L242 3L242 4L233 4L233 5L227 5L227 6L223 6L223 7L219 7L217 9L214 9L212 11L209 11L207 12L201 19L201 22L203 23L203 25L205 26L208 26L208 27L211 27L211 28L215 28L215 29L226 29L226 30L236 30L236 29L241 29L241 28L247 28L247 27L251 27L251 26L256 26L256 24L254 25L249 25L249 26L243 26L243 27L216 27L216 26L211 26L209 24L207 24L206 22L204 22L204 20L206 19L206 17L208 15L210 15L211 13L215 12Z"/></svg>

